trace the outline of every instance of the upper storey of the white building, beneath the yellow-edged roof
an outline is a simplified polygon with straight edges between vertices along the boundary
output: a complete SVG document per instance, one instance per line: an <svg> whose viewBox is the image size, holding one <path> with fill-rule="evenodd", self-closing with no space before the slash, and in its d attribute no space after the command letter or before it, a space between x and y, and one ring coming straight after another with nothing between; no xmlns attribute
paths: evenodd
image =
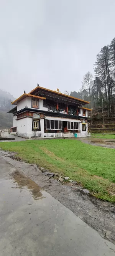
<svg viewBox="0 0 115 256"><path fill-rule="evenodd" d="M17 105L17 112L25 107L31 109L39 109L42 111L57 112L60 114L68 114L72 116L87 117L87 110L84 107L79 107L74 102L67 102L64 100L46 99L45 97L35 96L30 94L23 94L12 104Z"/></svg>

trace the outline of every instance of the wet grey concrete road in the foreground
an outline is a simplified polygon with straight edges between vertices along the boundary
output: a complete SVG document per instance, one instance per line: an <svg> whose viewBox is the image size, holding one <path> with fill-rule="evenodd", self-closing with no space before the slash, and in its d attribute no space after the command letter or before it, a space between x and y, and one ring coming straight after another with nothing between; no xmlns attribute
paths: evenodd
<svg viewBox="0 0 115 256"><path fill-rule="evenodd" d="M69 209L0 157L0 256L113 256Z"/></svg>

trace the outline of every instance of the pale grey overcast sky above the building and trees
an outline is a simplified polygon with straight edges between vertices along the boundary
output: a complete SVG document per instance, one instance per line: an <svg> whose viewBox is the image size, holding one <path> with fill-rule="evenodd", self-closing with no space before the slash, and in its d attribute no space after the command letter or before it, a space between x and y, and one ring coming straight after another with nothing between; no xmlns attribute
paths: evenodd
<svg viewBox="0 0 115 256"><path fill-rule="evenodd" d="M0 0L0 89L78 91L115 37L115 0Z"/></svg>

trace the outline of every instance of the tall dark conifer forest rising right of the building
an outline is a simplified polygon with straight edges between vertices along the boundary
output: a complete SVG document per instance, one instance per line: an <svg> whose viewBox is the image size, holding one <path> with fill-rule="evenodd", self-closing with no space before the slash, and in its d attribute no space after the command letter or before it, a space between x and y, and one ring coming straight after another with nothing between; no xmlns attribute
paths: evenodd
<svg viewBox="0 0 115 256"><path fill-rule="evenodd" d="M94 76L88 71L83 78L79 92L71 92L71 96L90 101L93 110L107 109L108 117L115 110L115 38L110 45L103 46L94 63Z"/></svg>

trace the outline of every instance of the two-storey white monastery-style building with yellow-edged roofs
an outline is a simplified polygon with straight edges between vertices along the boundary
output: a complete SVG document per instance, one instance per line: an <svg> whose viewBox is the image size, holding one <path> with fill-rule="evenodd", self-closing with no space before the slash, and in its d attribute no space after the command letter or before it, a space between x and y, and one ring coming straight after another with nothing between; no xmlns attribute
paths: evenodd
<svg viewBox="0 0 115 256"><path fill-rule="evenodd" d="M77 137L87 136L89 102L57 91L37 86L11 104L13 113L11 133L21 137Z"/></svg>

